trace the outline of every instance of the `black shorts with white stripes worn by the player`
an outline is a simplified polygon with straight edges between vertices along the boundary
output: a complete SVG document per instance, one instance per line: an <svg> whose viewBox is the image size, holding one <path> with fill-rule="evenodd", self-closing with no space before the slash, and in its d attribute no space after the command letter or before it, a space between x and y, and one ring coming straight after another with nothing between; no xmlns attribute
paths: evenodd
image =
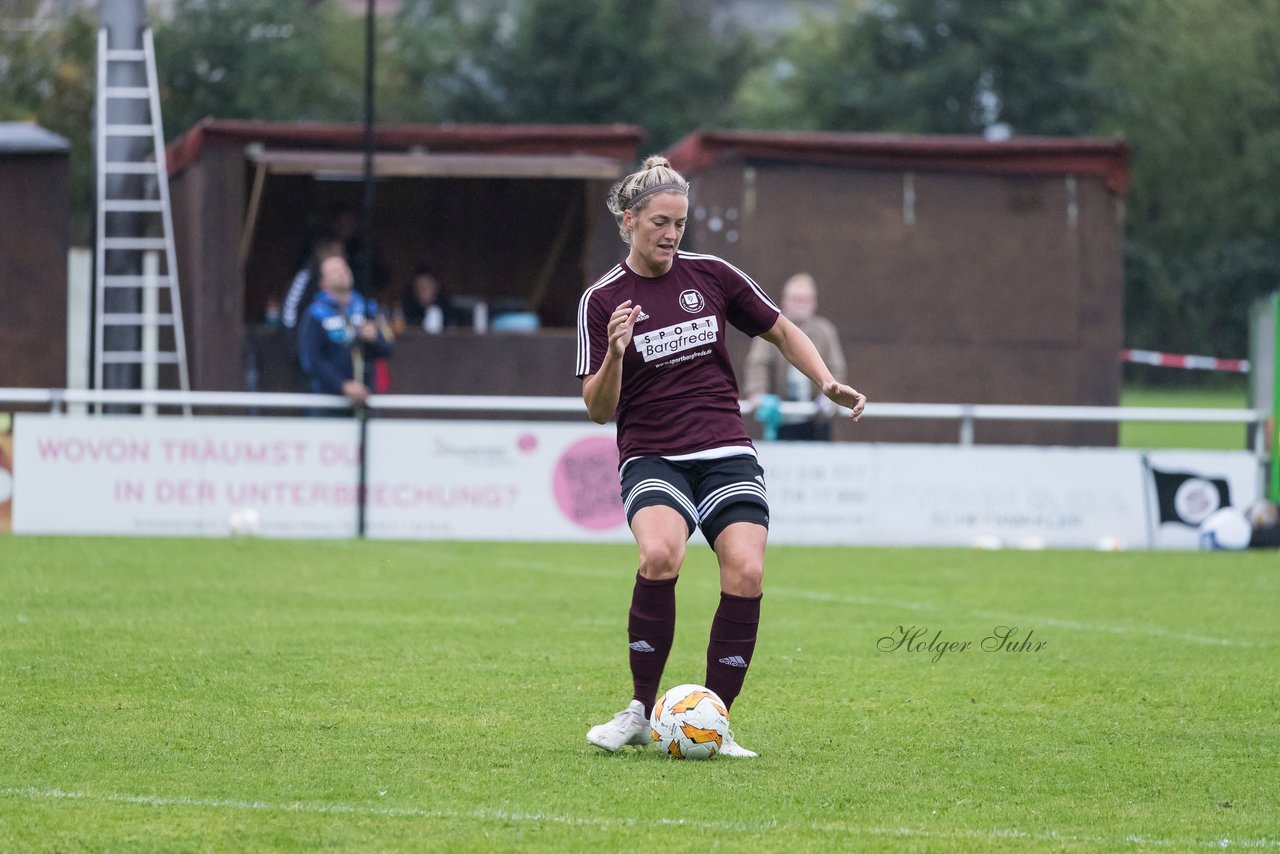
<svg viewBox="0 0 1280 854"><path fill-rule="evenodd" d="M622 469L622 506L627 511L627 524L640 508L653 504L671 507L684 516L690 536L701 526L712 545L732 522L769 526L764 469L750 455L718 460L630 460Z"/></svg>

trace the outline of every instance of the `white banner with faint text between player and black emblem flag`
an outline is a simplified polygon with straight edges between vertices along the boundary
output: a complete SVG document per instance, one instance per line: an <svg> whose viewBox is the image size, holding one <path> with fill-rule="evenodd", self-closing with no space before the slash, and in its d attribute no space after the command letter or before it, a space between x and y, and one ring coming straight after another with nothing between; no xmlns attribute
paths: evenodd
<svg viewBox="0 0 1280 854"><path fill-rule="evenodd" d="M760 460L774 543L1147 544L1133 451L774 443Z"/></svg>

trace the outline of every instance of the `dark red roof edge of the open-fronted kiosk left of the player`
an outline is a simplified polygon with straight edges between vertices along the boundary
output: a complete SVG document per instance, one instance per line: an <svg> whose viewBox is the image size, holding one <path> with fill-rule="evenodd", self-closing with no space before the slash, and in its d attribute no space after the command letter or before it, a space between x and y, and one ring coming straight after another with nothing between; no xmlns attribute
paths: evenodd
<svg viewBox="0 0 1280 854"><path fill-rule="evenodd" d="M644 137L641 128L630 124L379 124L374 143L380 152L580 155L631 163ZM257 145L266 151L358 152L364 127L204 119L169 145L169 174L182 172L200 159L205 146L215 143Z"/></svg>

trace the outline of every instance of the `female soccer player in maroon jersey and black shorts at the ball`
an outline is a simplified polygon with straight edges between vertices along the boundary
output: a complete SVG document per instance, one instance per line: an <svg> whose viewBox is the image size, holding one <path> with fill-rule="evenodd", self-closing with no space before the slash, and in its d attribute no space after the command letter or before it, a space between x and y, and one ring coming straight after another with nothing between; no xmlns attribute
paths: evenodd
<svg viewBox="0 0 1280 854"><path fill-rule="evenodd" d="M726 323L776 346L854 419L867 398L836 382L813 342L745 273L680 251L689 182L664 157L649 157L616 184L608 206L630 251L579 302L577 375L591 420L617 420L622 502L640 551L627 625L632 699L586 734L613 752L650 741L649 713L676 631L676 580L698 526L721 576L704 684L726 705L755 649L769 506L739 408ZM732 732L721 753L756 755Z"/></svg>

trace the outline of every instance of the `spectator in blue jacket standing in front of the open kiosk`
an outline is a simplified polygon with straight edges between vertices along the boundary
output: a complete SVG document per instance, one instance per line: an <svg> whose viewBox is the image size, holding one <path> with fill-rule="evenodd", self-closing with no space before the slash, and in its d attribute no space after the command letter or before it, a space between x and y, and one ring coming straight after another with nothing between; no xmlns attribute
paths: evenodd
<svg viewBox="0 0 1280 854"><path fill-rule="evenodd" d="M320 292L298 324L298 360L317 394L343 394L355 405L369 398L374 361L390 356L390 343L374 318L378 306L352 289L347 259L320 262Z"/></svg>

